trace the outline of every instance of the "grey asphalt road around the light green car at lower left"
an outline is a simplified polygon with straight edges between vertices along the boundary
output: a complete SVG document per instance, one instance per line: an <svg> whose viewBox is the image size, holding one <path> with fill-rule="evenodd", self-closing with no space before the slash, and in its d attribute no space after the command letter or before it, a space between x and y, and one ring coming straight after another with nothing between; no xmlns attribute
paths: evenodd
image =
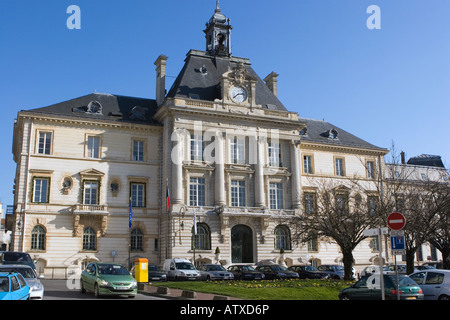
<svg viewBox="0 0 450 320"><path fill-rule="evenodd" d="M93 293L81 293L74 283L67 280L46 280L41 279L44 285L44 300L128 300L128 297L94 297ZM71 289L73 288L73 289ZM152 297L138 293L133 300L165 300L163 298Z"/></svg>

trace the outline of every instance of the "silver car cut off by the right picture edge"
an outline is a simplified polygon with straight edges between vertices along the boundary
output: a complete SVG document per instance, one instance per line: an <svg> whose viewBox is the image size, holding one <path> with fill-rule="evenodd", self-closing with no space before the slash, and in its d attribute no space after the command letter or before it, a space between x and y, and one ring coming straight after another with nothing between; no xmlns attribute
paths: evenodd
<svg viewBox="0 0 450 320"><path fill-rule="evenodd" d="M425 300L450 299L450 270L422 270L409 277L422 288Z"/></svg>

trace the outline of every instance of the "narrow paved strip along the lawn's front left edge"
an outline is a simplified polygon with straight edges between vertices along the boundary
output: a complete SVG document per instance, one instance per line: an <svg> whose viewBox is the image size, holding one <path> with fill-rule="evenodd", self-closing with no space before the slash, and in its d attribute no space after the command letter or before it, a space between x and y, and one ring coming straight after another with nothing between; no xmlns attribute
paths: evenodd
<svg viewBox="0 0 450 320"><path fill-rule="evenodd" d="M139 293L173 300L242 300L217 294L172 289L164 286L152 286L150 283L140 283Z"/></svg>

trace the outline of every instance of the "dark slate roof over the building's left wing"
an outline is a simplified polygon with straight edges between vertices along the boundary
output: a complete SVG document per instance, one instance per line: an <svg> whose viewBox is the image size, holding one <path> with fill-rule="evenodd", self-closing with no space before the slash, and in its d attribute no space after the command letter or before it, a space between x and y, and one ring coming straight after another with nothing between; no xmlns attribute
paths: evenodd
<svg viewBox="0 0 450 320"><path fill-rule="evenodd" d="M95 102L100 104L100 112L89 111L90 104ZM27 110L27 112L92 120L158 124L153 120L157 108L156 101L151 99L92 93L48 107Z"/></svg>

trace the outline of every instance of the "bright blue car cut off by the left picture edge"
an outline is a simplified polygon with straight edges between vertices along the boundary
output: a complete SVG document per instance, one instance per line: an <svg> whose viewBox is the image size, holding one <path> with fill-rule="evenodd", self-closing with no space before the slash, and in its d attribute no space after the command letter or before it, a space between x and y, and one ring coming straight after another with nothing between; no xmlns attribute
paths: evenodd
<svg viewBox="0 0 450 320"><path fill-rule="evenodd" d="M30 287L20 273L0 272L0 300L28 300Z"/></svg>

